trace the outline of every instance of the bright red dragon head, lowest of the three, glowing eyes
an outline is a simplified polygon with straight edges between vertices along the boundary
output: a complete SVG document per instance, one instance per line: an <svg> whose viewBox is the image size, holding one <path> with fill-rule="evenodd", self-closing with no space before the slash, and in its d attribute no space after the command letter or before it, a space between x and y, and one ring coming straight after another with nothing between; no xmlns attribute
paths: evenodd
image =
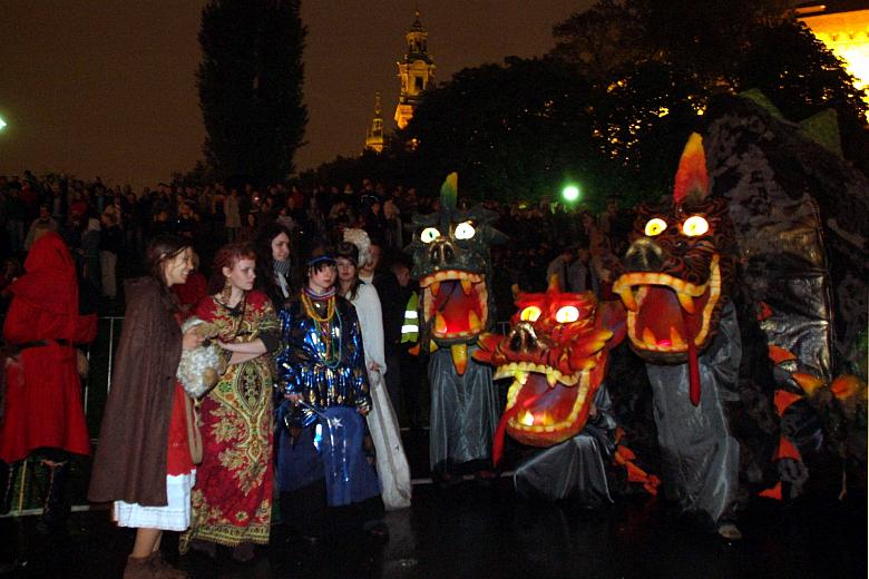
<svg viewBox="0 0 869 579"><path fill-rule="evenodd" d="M617 302L594 294L562 293L553 277L544 294L519 294L507 335L485 334L473 357L496 366L495 377L512 376L502 433L533 446L551 446L583 430L606 373L609 350L625 334Z"/></svg>

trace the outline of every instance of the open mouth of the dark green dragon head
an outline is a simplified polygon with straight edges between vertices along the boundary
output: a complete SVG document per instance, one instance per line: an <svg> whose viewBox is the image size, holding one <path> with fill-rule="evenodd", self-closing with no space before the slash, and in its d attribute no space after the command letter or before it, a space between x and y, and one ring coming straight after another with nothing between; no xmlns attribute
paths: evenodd
<svg viewBox="0 0 869 579"><path fill-rule="evenodd" d="M472 338L479 335L489 317L486 281L482 274L445 269L422 277L422 317L433 318L431 334L436 340Z"/></svg>

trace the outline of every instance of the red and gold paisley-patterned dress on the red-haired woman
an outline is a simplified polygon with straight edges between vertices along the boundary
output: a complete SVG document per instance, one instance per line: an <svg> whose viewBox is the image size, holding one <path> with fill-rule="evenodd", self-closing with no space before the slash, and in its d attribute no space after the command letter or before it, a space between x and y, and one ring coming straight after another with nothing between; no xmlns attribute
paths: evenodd
<svg viewBox="0 0 869 579"><path fill-rule="evenodd" d="M248 292L234 308L213 296L194 315L219 327L219 340L276 343L280 326L268 297ZM272 513L272 359L265 353L231 365L202 400L203 461L193 490L193 524L180 552L199 539L234 547L268 543Z"/></svg>

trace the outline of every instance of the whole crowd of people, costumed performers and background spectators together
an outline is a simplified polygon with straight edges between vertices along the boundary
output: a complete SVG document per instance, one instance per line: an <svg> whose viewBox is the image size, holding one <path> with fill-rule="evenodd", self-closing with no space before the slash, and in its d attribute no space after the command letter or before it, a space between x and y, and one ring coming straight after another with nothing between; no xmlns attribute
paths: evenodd
<svg viewBox="0 0 869 579"><path fill-rule="evenodd" d="M607 297L607 257L629 219L614 204L599 218L487 205L512 237L492 256L500 320L514 291L540 291L551 276ZM0 177L12 369L3 508L16 469L36 455L51 472L45 529L62 530L65 468L90 453L78 346L94 340L98 307L124 296L88 498L137 529L125 577L185 577L160 556L165 530L183 533L182 553L226 546L240 561L268 542L273 518L306 542L326 529L388 537L384 508L408 507L411 493L399 418L419 428L423 405L402 247L411 216L437 207L370 180L359 190L159 184L137 196L98 178ZM209 333L182 325L191 318ZM222 363L196 401L176 369L202 347Z"/></svg>

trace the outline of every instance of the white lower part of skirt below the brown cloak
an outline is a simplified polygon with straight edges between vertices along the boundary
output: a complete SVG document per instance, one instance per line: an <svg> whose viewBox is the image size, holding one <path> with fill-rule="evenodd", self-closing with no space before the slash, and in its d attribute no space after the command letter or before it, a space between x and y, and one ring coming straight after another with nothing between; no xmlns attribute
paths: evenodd
<svg viewBox="0 0 869 579"><path fill-rule="evenodd" d="M137 502L115 501L113 519L118 527L184 531L191 526L191 489L196 484L196 470L189 474L166 477L165 507L143 507Z"/></svg>

